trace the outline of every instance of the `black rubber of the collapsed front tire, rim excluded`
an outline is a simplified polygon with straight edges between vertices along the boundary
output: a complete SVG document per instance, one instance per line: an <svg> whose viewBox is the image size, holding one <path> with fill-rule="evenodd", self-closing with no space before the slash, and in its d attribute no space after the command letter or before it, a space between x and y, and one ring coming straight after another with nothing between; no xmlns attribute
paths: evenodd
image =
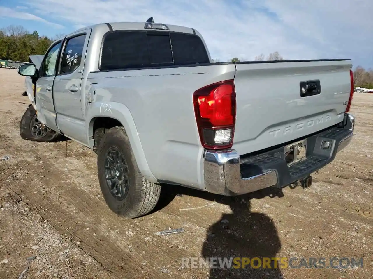
<svg viewBox="0 0 373 279"><path fill-rule="evenodd" d="M53 142L62 138L59 132L53 131L50 128L46 128L47 132L45 132L43 136L35 136L31 131L31 121L33 121L34 118L37 118L36 111L33 106L29 106L25 113L23 113L21 122L19 123L19 135L23 140Z"/></svg>

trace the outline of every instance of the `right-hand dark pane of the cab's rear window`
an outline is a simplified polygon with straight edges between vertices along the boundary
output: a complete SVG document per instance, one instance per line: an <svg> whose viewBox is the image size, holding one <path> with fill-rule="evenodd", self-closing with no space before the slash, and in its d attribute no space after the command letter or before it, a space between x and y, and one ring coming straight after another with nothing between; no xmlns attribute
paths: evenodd
<svg viewBox="0 0 373 279"><path fill-rule="evenodd" d="M175 65L210 63L202 40L195 35L170 33Z"/></svg>

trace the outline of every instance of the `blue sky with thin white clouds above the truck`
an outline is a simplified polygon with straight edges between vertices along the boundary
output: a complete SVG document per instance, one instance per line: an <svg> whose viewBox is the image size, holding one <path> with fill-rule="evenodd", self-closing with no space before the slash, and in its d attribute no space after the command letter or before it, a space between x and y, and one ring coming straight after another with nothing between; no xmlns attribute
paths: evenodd
<svg viewBox="0 0 373 279"><path fill-rule="evenodd" d="M197 29L212 58L351 58L373 68L371 0L0 0L0 28L67 34L100 22L154 21Z"/></svg>

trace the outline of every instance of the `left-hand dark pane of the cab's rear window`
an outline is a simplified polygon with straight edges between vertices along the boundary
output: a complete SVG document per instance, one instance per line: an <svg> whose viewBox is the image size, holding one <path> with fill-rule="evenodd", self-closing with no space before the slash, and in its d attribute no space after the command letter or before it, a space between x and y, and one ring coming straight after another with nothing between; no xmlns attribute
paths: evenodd
<svg viewBox="0 0 373 279"><path fill-rule="evenodd" d="M112 32L102 46L101 70L149 66L145 32Z"/></svg>

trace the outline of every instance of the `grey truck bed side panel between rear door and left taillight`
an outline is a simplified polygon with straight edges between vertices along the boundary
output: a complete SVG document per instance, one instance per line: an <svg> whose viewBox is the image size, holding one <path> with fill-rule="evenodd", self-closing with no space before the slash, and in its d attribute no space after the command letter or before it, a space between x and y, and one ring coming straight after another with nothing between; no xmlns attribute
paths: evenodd
<svg viewBox="0 0 373 279"><path fill-rule="evenodd" d="M195 121L193 93L234 75L234 64L90 73L86 88L93 84L95 95L92 102L92 95L87 96L87 121L93 115L110 117L110 112L100 109L100 104L125 106L135 127L127 132L137 133L140 141L136 143L132 137L132 148L141 147L146 160L142 168L148 165L156 179L202 188L203 148ZM87 94L90 91L86 90Z"/></svg>

